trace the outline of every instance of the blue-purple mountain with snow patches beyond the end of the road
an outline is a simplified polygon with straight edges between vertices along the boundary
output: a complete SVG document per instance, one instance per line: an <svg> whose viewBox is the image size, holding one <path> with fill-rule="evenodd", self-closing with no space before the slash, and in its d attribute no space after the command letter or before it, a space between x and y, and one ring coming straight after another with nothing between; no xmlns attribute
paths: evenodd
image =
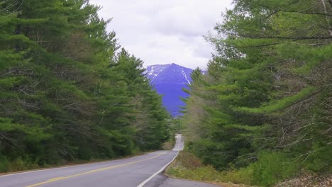
<svg viewBox="0 0 332 187"><path fill-rule="evenodd" d="M192 81L191 73L192 69L177 64L151 65L145 69L157 93L163 95L162 102L172 116L181 114L179 111L184 102L180 97L189 96L182 88L187 88L187 84Z"/></svg>

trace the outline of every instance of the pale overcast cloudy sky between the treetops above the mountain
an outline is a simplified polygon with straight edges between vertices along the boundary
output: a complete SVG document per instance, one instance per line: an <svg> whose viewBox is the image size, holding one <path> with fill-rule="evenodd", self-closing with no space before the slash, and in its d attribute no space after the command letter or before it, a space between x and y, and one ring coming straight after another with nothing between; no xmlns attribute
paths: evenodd
<svg viewBox="0 0 332 187"><path fill-rule="evenodd" d="M206 69L213 51L203 35L221 22L231 0L91 0L113 18L115 30L126 50L151 64L176 63Z"/></svg>

